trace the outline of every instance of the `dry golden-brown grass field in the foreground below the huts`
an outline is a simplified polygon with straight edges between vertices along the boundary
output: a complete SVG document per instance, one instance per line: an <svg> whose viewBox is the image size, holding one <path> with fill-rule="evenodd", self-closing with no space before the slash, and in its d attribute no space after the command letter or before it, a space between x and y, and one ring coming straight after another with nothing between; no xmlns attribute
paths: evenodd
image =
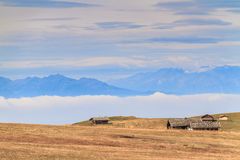
<svg viewBox="0 0 240 160"><path fill-rule="evenodd" d="M235 115L236 116L236 115ZM1 160L239 160L240 132L166 130L165 119L113 125L0 124Z"/></svg>

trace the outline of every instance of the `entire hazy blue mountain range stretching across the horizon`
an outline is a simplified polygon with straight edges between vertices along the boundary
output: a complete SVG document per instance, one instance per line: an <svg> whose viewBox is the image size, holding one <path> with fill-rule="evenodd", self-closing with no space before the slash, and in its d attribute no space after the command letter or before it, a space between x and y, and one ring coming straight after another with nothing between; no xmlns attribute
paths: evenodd
<svg viewBox="0 0 240 160"><path fill-rule="evenodd" d="M108 83L91 79L72 79L62 75L28 77L10 80L0 77L0 96L6 98L35 96L80 95L147 95L165 94L240 93L240 67L224 66L204 72L187 72L163 68L155 72L138 73Z"/></svg>

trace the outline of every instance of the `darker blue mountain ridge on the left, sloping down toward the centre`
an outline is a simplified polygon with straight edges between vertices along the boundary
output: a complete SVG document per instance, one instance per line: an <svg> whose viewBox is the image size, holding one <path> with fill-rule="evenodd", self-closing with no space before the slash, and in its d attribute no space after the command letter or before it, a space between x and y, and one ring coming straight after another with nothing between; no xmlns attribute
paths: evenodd
<svg viewBox="0 0 240 160"><path fill-rule="evenodd" d="M71 79L62 75L44 78L28 77L19 80L0 78L0 96L7 98L35 96L79 96L136 94L134 91L118 88L91 78Z"/></svg>

